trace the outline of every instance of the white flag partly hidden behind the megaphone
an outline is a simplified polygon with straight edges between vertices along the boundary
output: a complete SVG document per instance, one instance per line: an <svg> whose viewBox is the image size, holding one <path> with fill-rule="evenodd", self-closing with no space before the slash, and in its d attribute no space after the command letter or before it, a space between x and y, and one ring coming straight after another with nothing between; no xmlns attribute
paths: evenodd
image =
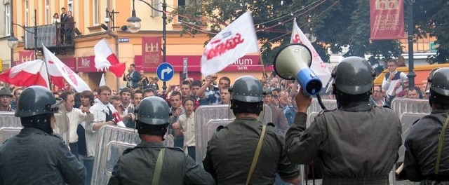
<svg viewBox="0 0 449 185"><path fill-rule="evenodd" d="M292 39L290 40L290 43L302 43L309 48L311 52L310 69L320 78L321 83L323 83L323 88L326 87L330 79L330 71L328 67L326 67L326 64L324 64L323 60L321 60L320 55L316 53L314 46L311 46L307 36L305 36L300 27L297 26L296 19L293 20Z"/></svg>

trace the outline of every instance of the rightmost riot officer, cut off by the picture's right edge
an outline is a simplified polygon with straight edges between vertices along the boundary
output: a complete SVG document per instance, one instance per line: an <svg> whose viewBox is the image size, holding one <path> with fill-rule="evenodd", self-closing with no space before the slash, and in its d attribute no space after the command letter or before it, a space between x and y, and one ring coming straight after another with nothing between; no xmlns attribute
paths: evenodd
<svg viewBox="0 0 449 185"><path fill-rule="evenodd" d="M449 68L436 69L428 82L432 111L410 128L404 170L410 181L449 184Z"/></svg>

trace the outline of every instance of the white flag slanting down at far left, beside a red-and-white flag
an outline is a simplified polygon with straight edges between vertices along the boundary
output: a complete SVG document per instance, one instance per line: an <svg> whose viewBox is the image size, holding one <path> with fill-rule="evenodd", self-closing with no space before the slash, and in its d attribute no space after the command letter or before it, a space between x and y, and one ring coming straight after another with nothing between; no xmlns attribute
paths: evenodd
<svg viewBox="0 0 449 185"><path fill-rule="evenodd" d="M53 53L50 52L45 46L43 46L43 56L45 57L45 62L48 67L48 74L50 76L56 77L56 78L64 78L69 85L74 88L77 92L82 92L83 90L91 90L89 88L89 85L86 84L86 82L83 81L81 77L78 76L72 69L67 67L64 63L59 60L58 57L53 55Z"/></svg>

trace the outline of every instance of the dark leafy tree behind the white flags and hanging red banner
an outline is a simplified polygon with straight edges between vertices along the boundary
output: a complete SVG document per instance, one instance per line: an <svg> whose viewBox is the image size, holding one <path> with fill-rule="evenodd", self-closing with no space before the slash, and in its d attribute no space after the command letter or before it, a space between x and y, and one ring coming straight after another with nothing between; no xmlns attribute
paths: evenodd
<svg viewBox="0 0 449 185"><path fill-rule="evenodd" d="M444 12L445 16L441 11L438 15L427 15L431 7L424 8L425 2L432 2L435 9L441 7L441 2L432 0L416 3L415 8L420 10L420 13L415 15L420 16L417 25L422 27L426 20L432 18L437 21L433 25L438 24L438 27L422 29L420 35L427 32L436 35L440 44L438 57L447 57L449 34L444 33L449 29L448 21L443 21L443 18L449 16L449 11ZM272 64L280 47L290 42L294 18L297 18L297 23L304 33L316 36L316 42L312 44L325 62L329 62L328 48L333 52L340 52L342 46L349 47L345 56L371 55L371 61L379 59L380 56L384 57L384 60L398 57L402 53L398 41L370 40L369 9L368 0L203 0L192 1L173 13L182 17L182 27L186 32L196 34L206 25L210 25L210 32L220 32L239 15L252 11L257 38L262 43L262 59L266 65ZM441 25L445 25L445 29ZM212 38L215 34L209 36Z"/></svg>

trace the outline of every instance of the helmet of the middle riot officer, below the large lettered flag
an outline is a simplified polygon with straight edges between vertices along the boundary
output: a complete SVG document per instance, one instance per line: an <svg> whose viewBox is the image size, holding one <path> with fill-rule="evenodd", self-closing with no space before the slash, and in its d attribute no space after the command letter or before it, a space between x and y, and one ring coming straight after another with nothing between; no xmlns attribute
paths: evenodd
<svg viewBox="0 0 449 185"><path fill-rule="evenodd" d="M264 91L262 83L253 76L241 76L232 86L231 109L234 114L254 113L259 115L263 108Z"/></svg>

